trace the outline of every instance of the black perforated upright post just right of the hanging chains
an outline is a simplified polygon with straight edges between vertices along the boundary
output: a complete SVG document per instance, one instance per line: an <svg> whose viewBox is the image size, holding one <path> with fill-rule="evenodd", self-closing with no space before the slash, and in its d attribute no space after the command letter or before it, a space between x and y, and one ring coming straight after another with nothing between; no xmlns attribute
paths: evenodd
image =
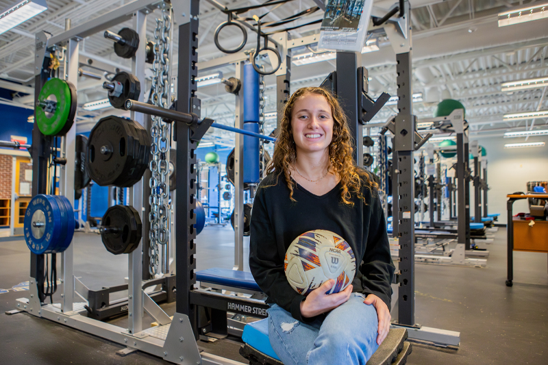
<svg viewBox="0 0 548 365"><path fill-rule="evenodd" d="M182 11L175 11L175 23L179 25L179 62L177 64L177 112L194 112L199 115L200 100L196 97L198 74L198 15L199 0L186 0L180 4ZM194 107L194 108L193 108ZM190 304L190 290L196 283L196 180L197 142L191 140L192 131L185 123L177 123L177 313L186 314L194 329L196 326L195 305Z"/></svg>

